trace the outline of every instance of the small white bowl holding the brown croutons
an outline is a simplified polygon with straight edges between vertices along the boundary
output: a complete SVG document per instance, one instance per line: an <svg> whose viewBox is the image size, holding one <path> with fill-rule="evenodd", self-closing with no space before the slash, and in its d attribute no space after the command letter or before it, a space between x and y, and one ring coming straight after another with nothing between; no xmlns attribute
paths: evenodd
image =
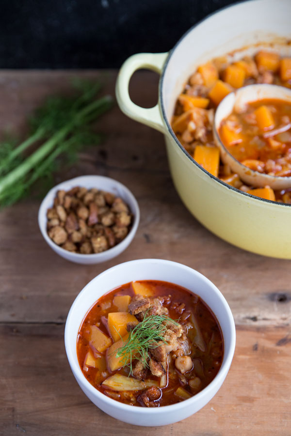
<svg viewBox="0 0 291 436"><path fill-rule="evenodd" d="M123 241L119 242L119 244L115 245L113 248L102 251L101 253L81 254L67 251L59 247L50 239L47 232L47 210L53 206L53 201L58 190L64 189L65 191L68 191L75 186L86 187L88 189L97 188L103 191L111 192L117 197L122 198L122 200L124 200L129 205L130 211L133 215L133 224L129 231L129 234L123 239ZM38 225L43 237L49 244L50 248L52 248L60 256L71 262L86 265L106 262L110 259L113 259L113 257L118 256L120 253L122 253L122 251L128 248L138 228L139 219L140 211L138 203L133 194L129 191L129 189L122 185L122 183L117 182L117 180L98 175L86 175L76 177L74 179L66 180L59 185L56 185L55 187L50 189L48 194L45 196L38 211Z"/></svg>

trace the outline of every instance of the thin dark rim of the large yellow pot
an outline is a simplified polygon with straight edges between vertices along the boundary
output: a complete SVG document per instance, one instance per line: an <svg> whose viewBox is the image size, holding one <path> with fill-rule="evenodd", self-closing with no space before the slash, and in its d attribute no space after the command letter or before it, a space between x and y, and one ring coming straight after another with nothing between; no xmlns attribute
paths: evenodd
<svg viewBox="0 0 291 436"><path fill-rule="evenodd" d="M213 174L210 174L210 172L206 171L200 164L198 164L194 158L186 151L186 149L182 146L182 144L180 143L180 141L178 140L177 136L175 135L172 126L170 125L170 123L167 120L167 116L166 116L166 110L165 110L165 106L164 106L164 100L163 100L163 94L162 94L162 87L163 87L163 82L164 82L164 77L165 77L165 72L168 66L168 63L170 62L170 59L172 58L176 48L179 46L179 44L183 41L183 39L188 35L188 33L191 33L196 27L198 27L200 24L204 23L204 21L207 21L210 17L214 16L214 15L219 15L220 13L224 12L226 9L231 9L231 8L236 8L237 6L242 6L243 4L252 4L254 3L254 1L261 1L261 0L240 0L237 1L233 4L224 6L210 14L208 14L207 16L205 16L204 18L202 18L201 20L199 20L197 23L194 24L194 26L190 27L190 29L188 29L176 42L176 44L174 45L174 47L169 51L169 55L166 58L166 61L163 64L162 67L162 73L161 73L161 78L159 81L159 104L161 107L161 112L162 112L162 118L163 118L163 122L165 123L165 125L167 126L168 132L170 133L171 137L175 140L176 144L178 145L178 147L180 148L180 150L185 154L185 156L187 156L188 159L190 159L190 161L197 167L199 168L199 170L203 171L207 176L210 177L210 179L212 179L215 183L219 183L220 185L222 185L223 187L228 188L229 190L233 191L234 193L238 193L238 194L242 194L246 197L248 197L251 201L255 201L255 202L263 202L263 203L270 203L270 204L276 204L277 207L290 207L291 204L289 203L281 203L281 202L276 202L273 200L267 200L264 198L260 198L260 197L256 197L255 195L252 194L248 194L247 192L241 191L240 189L237 189L231 185L228 185L226 182L224 182L223 180L220 180L218 177L215 177Z"/></svg>

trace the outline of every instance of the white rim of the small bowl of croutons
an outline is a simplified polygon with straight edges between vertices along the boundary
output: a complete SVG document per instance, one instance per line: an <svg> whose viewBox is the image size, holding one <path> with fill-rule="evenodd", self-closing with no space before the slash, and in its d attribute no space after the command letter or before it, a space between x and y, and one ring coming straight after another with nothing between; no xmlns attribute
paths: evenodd
<svg viewBox="0 0 291 436"><path fill-rule="evenodd" d="M132 213L132 215L134 217L133 225L131 226L131 229L129 230L129 233L126 235L126 237L121 242L119 242L118 244L116 244L114 247L112 247L110 249L107 249L105 251L101 251L100 253L91 253L91 254L73 253L72 251L68 251L68 250L63 249L62 247L57 245L55 242L53 242L52 239L50 239L49 234L46 230L46 226L44 228L42 226L41 219L42 219L42 217L45 217L46 222L47 222L46 212L48 209L45 206L45 202L46 202L47 198L49 197L49 195L51 195L51 194L55 195L55 193L59 189L64 188L64 185L66 185L67 183L75 183L76 182L77 185L79 184L81 186L81 181L83 179L87 179L89 177L94 178L96 181L98 181L98 180L100 181L102 179L103 181L108 181L108 182L110 181L111 183L113 182L115 184L115 186L120 187L122 190L124 190L127 193L127 195L130 197L130 199L134 205L134 210L130 210L130 212ZM116 253L116 255L118 255L120 252L122 252L123 250L125 250L127 248L128 240L131 238L132 234L134 236L134 234L137 231L137 228L139 225L139 220L140 220L139 205L138 205L136 198L134 197L132 192L129 190L129 188L126 187L125 185L123 185L121 182L118 182L118 180L115 180L111 177L97 175L97 174L86 174L86 175L82 175L82 176L77 176L77 177L74 177L72 179L64 180L63 182L59 183L58 185L55 185L46 194L46 196L42 200L42 202L39 206L39 210L38 210L38 226L40 228L41 234L43 235L44 239L49 244L49 246L52 249L57 248L58 250L60 250L60 253L62 253L62 254L69 253L70 256L72 256L76 260L77 259L90 259L90 260L101 259L104 256L104 253L106 253L106 254L110 253L112 258L115 257L115 253ZM130 243L130 241L129 241L129 243ZM121 249L121 251L120 251L120 249Z"/></svg>

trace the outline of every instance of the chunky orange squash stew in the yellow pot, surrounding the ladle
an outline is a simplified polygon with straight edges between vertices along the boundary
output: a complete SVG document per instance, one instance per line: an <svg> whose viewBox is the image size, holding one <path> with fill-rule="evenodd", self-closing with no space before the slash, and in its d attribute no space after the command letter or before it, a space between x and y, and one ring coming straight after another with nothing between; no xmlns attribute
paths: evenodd
<svg viewBox="0 0 291 436"><path fill-rule="evenodd" d="M255 83L268 83L291 88L291 58L280 58L275 51L261 50L253 57L244 57L236 62L231 62L229 59L230 57L226 56L200 65L189 78L176 103L172 119L173 131L196 162L214 176L219 177L220 180L255 196L291 204L290 188L274 192L270 187L253 189L251 186L246 186L238 174L233 173L228 165L221 162L219 149L214 144L212 135L215 109L221 100L233 90ZM274 106L274 102L272 104L260 102L259 106L272 112L272 107L276 107L276 104ZM266 155L262 159L265 165L257 163L256 166L261 172L290 176L291 159L289 160L288 152L291 147L290 126L286 130L286 125L291 123L291 114L290 109L287 110L288 113L284 109L284 114L281 113L281 110L283 108L279 109L279 113L284 115L284 120L281 123L284 124L285 128L284 135L280 135L282 132L277 132L278 135L272 136L272 140L267 141L267 146L269 147L270 142L273 147L275 146L274 141L281 142L282 152L279 151L275 158L272 153ZM259 118L264 119L266 112L266 109L260 109ZM242 156L242 159L248 160L248 156ZM255 160L261 159L256 158ZM249 164L253 166L254 162Z"/></svg>

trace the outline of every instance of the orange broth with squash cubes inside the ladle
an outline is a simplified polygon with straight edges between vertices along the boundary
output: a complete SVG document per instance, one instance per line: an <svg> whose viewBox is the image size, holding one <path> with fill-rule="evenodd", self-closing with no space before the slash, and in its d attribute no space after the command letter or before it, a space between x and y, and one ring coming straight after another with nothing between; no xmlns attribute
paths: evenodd
<svg viewBox="0 0 291 436"><path fill-rule="evenodd" d="M228 152L252 170L291 175L291 105L266 99L233 111L219 127Z"/></svg>

